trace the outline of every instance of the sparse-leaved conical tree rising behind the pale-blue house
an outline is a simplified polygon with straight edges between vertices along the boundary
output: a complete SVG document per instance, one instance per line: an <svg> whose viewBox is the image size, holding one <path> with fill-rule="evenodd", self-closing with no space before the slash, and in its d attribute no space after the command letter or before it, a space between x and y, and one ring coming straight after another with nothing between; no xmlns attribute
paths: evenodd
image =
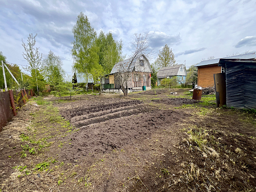
<svg viewBox="0 0 256 192"><path fill-rule="evenodd" d="M175 55L173 54L172 49L165 44L162 51L159 51L157 59L154 61L155 68L159 70L162 67L175 65L175 63Z"/></svg>

